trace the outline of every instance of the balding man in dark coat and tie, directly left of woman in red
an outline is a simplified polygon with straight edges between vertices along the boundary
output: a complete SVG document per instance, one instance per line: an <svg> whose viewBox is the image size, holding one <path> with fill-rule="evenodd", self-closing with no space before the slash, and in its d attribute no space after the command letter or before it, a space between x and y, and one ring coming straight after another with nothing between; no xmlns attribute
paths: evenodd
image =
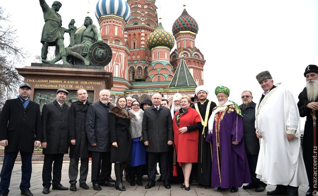
<svg viewBox="0 0 318 196"><path fill-rule="evenodd" d="M148 151L149 182L145 189L155 186L158 157L163 185L166 189L171 188L169 183L169 146L173 143L172 118L169 108L160 105L161 99L159 93L152 96L153 105L145 109L142 119L142 136Z"/></svg>

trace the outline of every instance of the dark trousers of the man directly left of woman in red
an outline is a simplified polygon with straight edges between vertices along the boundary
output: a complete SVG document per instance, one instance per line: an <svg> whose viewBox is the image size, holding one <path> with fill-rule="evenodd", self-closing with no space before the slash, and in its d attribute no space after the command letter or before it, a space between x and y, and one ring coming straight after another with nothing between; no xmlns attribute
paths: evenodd
<svg viewBox="0 0 318 196"><path fill-rule="evenodd" d="M148 152L148 176L149 180L156 181L157 161L159 158L160 174L162 182L169 180L169 152Z"/></svg>

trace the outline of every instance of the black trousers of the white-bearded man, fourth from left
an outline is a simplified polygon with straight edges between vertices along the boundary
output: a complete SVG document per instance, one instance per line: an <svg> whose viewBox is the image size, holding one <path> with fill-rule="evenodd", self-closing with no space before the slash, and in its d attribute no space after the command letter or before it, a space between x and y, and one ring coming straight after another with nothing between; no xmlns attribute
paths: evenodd
<svg viewBox="0 0 318 196"><path fill-rule="evenodd" d="M99 175L100 173L100 175ZM92 183L108 181L111 173L110 151L94 152L92 151Z"/></svg>

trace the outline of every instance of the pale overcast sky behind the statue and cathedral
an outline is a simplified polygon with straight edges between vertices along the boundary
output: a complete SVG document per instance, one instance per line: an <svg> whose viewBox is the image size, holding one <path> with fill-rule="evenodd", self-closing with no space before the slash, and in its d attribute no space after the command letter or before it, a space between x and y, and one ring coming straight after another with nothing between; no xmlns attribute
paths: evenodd
<svg viewBox="0 0 318 196"><path fill-rule="evenodd" d="M97 1L60 0L63 26L75 19L79 27L87 15L98 25ZM52 5L53 0L47 2ZM183 4L199 25L195 45L206 60L204 82L210 99L216 101L214 89L224 85L230 89L230 100L241 104L241 92L250 90L258 102L262 89L255 76L268 70L274 83L284 84L298 101L306 66L318 64L317 0L157 0L158 16L170 33ZM0 6L11 14L11 25L30 54L19 67L28 66L42 47L44 20L39 1L3 0Z"/></svg>

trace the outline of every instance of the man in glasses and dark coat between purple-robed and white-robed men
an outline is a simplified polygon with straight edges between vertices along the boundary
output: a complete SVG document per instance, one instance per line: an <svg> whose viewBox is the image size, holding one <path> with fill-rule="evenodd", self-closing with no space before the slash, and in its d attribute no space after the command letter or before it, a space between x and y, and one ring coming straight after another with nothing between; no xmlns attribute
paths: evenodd
<svg viewBox="0 0 318 196"><path fill-rule="evenodd" d="M255 192L263 192L267 184L256 178L255 169L257 165L258 154L260 151L260 142L255 134L255 107L252 92L242 92L242 104L239 106L243 116L243 132L245 152L248 166L251 174L252 183L243 186L243 189L253 189Z"/></svg>

